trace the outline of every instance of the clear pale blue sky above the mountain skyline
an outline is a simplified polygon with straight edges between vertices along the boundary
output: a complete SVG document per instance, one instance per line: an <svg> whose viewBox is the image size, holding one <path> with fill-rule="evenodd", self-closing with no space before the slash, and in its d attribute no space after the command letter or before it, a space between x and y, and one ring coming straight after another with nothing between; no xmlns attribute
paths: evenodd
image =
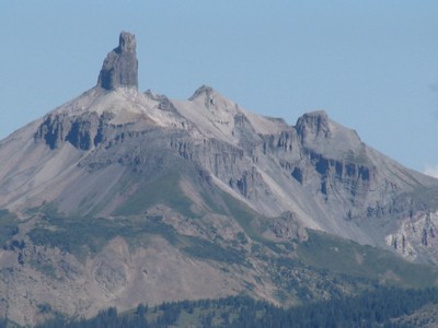
<svg viewBox="0 0 438 328"><path fill-rule="evenodd" d="M249 110L325 109L402 164L438 171L438 1L4 0L0 138L92 87L122 30L141 90L201 84Z"/></svg>

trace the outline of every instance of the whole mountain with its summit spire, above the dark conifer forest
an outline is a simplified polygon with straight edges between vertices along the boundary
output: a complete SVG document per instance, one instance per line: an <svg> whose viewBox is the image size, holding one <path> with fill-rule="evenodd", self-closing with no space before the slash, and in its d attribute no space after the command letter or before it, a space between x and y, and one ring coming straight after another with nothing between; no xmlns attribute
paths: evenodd
<svg viewBox="0 0 438 328"><path fill-rule="evenodd" d="M436 283L437 179L325 112L290 126L206 85L171 99L137 68L123 32L96 86L0 142L0 315Z"/></svg>

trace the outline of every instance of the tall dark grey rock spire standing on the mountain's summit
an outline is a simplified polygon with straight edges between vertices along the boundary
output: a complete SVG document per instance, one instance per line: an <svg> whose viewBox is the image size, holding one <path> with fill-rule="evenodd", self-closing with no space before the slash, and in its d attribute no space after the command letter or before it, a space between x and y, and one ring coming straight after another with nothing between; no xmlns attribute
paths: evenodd
<svg viewBox="0 0 438 328"><path fill-rule="evenodd" d="M120 33L118 47L111 51L103 62L97 86L106 90L120 86L138 89L138 61L134 34Z"/></svg>

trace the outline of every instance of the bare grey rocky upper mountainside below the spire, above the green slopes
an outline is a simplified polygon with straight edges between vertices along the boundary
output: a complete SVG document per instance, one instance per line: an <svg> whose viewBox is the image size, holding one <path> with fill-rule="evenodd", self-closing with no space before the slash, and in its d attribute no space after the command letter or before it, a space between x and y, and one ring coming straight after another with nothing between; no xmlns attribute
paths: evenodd
<svg viewBox="0 0 438 328"><path fill-rule="evenodd" d="M0 150L1 206L11 209L57 201L72 212L84 199L115 207L128 195L107 194L123 189L124 175L171 169L174 161L263 214L292 211L306 226L371 244L379 239L362 233L361 218L385 223L437 203L419 196L436 190L435 179L368 148L325 113L292 127L247 114L209 87L186 102L93 89L13 133Z"/></svg>

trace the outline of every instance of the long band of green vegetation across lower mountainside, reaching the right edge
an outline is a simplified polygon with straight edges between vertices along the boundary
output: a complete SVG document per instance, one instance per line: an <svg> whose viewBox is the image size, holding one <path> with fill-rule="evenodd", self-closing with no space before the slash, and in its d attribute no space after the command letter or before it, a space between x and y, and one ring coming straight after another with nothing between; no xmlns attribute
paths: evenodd
<svg viewBox="0 0 438 328"><path fill-rule="evenodd" d="M171 185L164 186L161 186L164 188L162 190L169 189ZM178 187L173 188L175 190ZM164 220L158 214L141 213L112 219L74 218L49 209L46 219L39 220L28 236L36 245L58 247L81 260L96 255L116 236L123 237L131 249L148 247L151 238L161 236L189 257L241 266L240 269L252 274L261 285L274 284L276 290L273 296L284 305L357 295L379 284L406 288L435 285L437 270L434 267L410 263L390 251L326 233L309 230L309 239L306 242L266 239L262 234L269 229L272 219L255 213L228 195L215 194L211 197L217 201L216 210L235 220L243 229L243 232L235 235L235 239L224 239L220 231L212 229L214 221L205 221L210 220L210 216L188 215L188 202L180 204L178 212L186 212L175 220L182 220L199 237L178 232L170 224L173 224L173 219ZM143 206L145 202L138 209ZM168 202L168 207L174 209L175 204ZM132 210L132 207L129 209ZM221 216L218 218L211 220L221 220ZM48 267L39 270L48 273L53 271ZM247 285L246 291L256 293L254 285Z"/></svg>

